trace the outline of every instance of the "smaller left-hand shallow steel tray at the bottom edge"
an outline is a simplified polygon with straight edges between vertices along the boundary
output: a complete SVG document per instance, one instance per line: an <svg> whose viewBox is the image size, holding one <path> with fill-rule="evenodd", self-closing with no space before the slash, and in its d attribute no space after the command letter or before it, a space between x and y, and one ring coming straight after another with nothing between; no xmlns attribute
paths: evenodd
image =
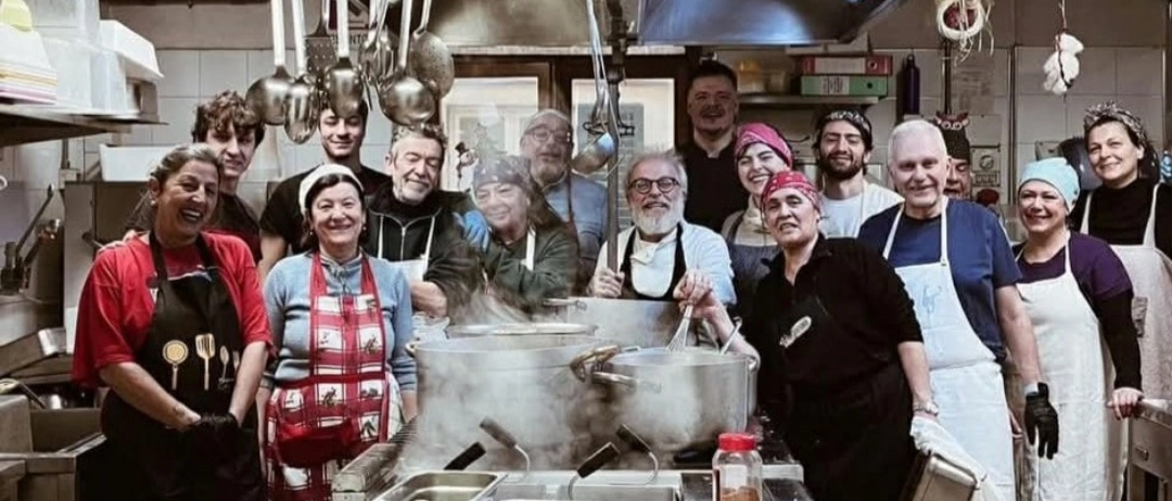
<svg viewBox="0 0 1172 501"><path fill-rule="evenodd" d="M504 475L482 472L425 472L408 476L375 501L481 501L491 499Z"/></svg>

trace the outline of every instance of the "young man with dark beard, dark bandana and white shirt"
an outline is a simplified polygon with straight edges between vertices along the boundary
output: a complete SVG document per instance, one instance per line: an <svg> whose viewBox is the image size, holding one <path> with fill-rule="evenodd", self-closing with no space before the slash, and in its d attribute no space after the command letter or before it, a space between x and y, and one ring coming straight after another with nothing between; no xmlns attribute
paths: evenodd
<svg viewBox="0 0 1172 501"><path fill-rule="evenodd" d="M874 147L866 117L854 110L832 111L818 119L816 130L823 207L818 227L827 238L854 238L863 221L904 198L866 180L864 167Z"/></svg>

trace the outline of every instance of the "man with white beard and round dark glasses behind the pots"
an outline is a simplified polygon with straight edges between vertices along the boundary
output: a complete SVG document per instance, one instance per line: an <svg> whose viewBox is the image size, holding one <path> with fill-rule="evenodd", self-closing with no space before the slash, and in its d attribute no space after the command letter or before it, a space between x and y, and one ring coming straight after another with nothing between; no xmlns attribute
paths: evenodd
<svg viewBox="0 0 1172 501"><path fill-rule="evenodd" d="M619 270L598 256L591 294L649 301L681 298L684 283L710 288L725 306L736 302L728 247L716 232L683 220L688 176L669 152L635 158L627 173L627 206L634 226L619 233ZM687 301L687 298L683 298Z"/></svg>

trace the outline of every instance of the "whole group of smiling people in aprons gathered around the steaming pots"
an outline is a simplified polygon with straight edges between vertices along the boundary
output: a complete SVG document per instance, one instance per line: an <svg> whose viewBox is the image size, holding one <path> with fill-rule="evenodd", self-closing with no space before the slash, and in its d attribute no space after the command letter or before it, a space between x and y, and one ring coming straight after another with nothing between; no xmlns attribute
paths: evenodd
<svg viewBox="0 0 1172 501"><path fill-rule="evenodd" d="M368 108L323 110L327 162L258 218L236 190L265 128L236 92L202 104L80 303L74 377L111 390L103 431L130 499L328 499L347 460L418 412L413 337L570 295L690 306L711 341L761 359L759 405L818 500L895 499L924 423L1003 500L1023 474L1043 499L1117 499L1118 420L1172 373L1172 316L1133 310L1172 291L1172 193L1138 174L1139 121L1089 111L1092 193L1062 159L1023 171L1014 247L966 199L970 158L940 126L893 130L892 191L865 177L867 118L830 112L811 181L778 130L736 123L735 89L701 63L693 140L631 162L615 263L618 221L568 169L560 111L530 118L519 156L478 158L465 194L440 190L438 129L404 129L373 169ZM1043 458L1024 473L1020 433Z"/></svg>

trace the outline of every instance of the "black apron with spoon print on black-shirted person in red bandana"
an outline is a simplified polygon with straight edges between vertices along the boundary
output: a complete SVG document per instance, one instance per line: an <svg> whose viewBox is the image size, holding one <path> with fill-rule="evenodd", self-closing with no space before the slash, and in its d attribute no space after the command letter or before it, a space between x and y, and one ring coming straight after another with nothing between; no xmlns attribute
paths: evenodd
<svg viewBox="0 0 1172 501"><path fill-rule="evenodd" d="M784 439L804 468L812 496L899 499L914 454L912 393L899 358L878 365L881 361L872 359L865 363L871 368L866 373L844 373L843 366L863 362L866 350L831 318L817 295L798 302L778 327L774 343L789 343L782 351L792 396ZM831 365L841 376L819 384Z"/></svg>

